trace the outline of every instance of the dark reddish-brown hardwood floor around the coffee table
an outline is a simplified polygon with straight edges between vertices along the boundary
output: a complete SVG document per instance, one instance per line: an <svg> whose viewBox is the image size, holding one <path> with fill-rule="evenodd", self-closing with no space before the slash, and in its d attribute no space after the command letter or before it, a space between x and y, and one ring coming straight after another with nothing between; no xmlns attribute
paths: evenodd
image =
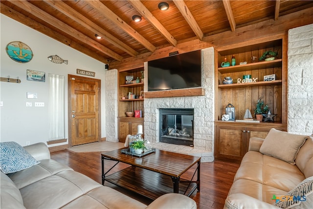
<svg viewBox="0 0 313 209"><path fill-rule="evenodd" d="M89 176L101 184L101 152L71 152L61 150L51 152L51 159L73 168L75 171ZM108 170L114 162L106 162L105 169ZM110 173L128 167L119 163ZM239 164L216 160L212 163L201 163L201 190L191 194L191 198L197 202L198 209L223 209L229 188L232 185ZM184 174L184 178L190 179L193 172ZM140 195L118 188L108 182L106 186L115 188L128 196L148 205L151 200Z"/></svg>

